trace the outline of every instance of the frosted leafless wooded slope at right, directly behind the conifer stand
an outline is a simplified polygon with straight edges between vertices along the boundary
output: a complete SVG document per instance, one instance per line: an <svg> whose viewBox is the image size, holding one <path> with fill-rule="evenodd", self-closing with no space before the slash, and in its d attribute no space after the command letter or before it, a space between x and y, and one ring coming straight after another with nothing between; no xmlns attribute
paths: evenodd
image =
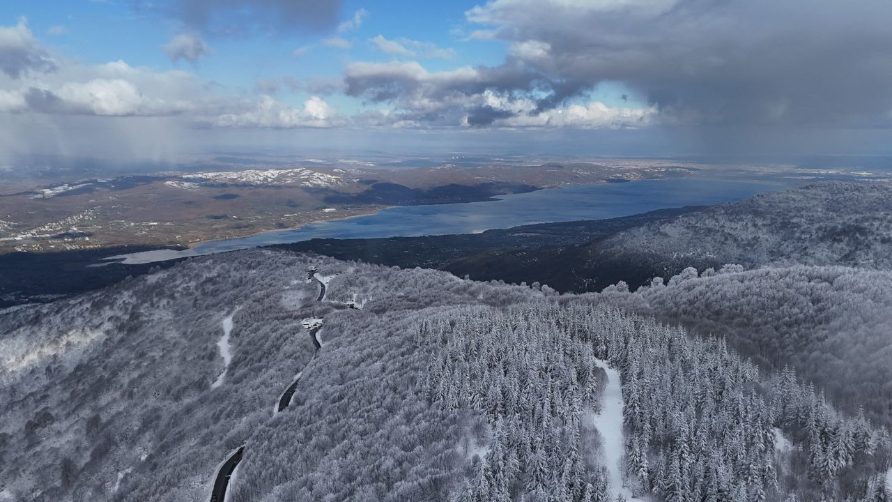
<svg viewBox="0 0 892 502"><path fill-rule="evenodd" d="M873 421L892 426L892 272L730 265L698 274L691 268L634 293L620 284L601 296L726 336L764 367L790 365L840 405L864 406Z"/></svg>

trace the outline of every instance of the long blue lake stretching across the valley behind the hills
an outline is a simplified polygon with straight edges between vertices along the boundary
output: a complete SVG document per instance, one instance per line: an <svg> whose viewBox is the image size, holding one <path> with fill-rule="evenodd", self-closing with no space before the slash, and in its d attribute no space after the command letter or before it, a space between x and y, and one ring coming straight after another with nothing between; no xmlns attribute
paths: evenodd
<svg viewBox="0 0 892 502"><path fill-rule="evenodd" d="M414 237L475 233L530 223L601 220L682 205L722 204L787 187L774 181L701 179L569 185L500 196L496 201L394 207L366 216L310 223L299 229L214 240L183 251L163 249L109 259L123 258L125 264L147 264L311 238Z"/></svg>

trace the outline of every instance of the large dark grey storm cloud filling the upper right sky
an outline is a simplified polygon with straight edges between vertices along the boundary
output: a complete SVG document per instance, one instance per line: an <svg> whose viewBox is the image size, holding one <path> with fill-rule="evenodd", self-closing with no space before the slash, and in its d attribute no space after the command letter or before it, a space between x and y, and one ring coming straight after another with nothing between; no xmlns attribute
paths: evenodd
<svg viewBox="0 0 892 502"><path fill-rule="evenodd" d="M547 76L541 109L616 80L685 122L892 118L886 0L496 0L468 19Z"/></svg>

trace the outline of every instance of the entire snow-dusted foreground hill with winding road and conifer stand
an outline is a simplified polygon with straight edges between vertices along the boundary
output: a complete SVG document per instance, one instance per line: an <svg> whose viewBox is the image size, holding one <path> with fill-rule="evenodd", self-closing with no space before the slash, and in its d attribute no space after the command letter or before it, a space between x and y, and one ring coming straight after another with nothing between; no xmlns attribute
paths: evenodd
<svg viewBox="0 0 892 502"><path fill-rule="evenodd" d="M0 311L0 500L209 499L240 447L227 501L887 495L855 403L618 298L253 250Z"/></svg>

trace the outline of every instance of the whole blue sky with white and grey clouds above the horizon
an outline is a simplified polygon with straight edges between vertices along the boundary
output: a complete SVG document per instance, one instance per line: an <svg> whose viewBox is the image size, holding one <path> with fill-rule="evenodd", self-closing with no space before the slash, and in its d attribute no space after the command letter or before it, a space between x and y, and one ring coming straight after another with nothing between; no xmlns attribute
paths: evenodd
<svg viewBox="0 0 892 502"><path fill-rule="evenodd" d="M892 153L892 3L6 0L0 162Z"/></svg>

